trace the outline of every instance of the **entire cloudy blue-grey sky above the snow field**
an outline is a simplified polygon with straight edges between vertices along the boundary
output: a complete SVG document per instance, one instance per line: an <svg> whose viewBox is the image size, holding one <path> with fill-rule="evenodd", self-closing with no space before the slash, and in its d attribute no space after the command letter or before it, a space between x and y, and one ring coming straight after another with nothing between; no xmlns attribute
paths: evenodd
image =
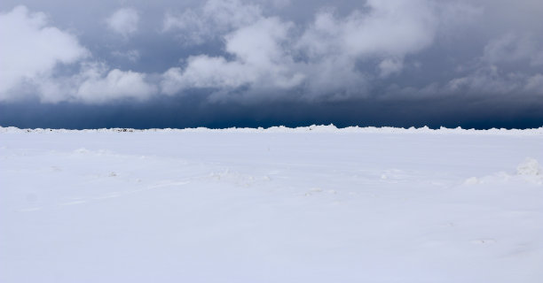
<svg viewBox="0 0 543 283"><path fill-rule="evenodd" d="M0 3L0 126L543 126L540 0Z"/></svg>

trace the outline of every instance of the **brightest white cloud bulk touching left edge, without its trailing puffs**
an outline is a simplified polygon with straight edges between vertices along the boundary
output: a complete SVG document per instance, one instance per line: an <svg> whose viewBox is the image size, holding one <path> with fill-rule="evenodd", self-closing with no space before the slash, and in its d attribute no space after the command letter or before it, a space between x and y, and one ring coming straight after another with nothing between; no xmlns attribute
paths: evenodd
<svg viewBox="0 0 543 283"><path fill-rule="evenodd" d="M16 98L15 88L50 76L57 65L89 55L74 35L48 26L45 14L25 6L0 14L0 37L0 101Z"/></svg>

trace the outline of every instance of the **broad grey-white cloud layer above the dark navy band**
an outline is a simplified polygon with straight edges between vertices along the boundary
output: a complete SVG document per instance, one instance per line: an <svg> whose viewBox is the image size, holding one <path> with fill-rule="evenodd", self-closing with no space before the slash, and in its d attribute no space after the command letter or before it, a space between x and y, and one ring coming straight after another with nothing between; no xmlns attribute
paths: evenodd
<svg viewBox="0 0 543 283"><path fill-rule="evenodd" d="M2 4L0 103L543 97L537 1L149 5Z"/></svg>

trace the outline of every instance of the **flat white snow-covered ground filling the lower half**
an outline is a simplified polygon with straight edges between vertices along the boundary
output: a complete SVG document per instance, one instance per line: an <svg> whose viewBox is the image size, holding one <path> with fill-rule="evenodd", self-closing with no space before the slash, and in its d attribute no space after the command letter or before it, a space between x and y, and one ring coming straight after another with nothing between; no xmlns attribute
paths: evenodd
<svg viewBox="0 0 543 283"><path fill-rule="evenodd" d="M543 282L543 128L0 128L0 282Z"/></svg>

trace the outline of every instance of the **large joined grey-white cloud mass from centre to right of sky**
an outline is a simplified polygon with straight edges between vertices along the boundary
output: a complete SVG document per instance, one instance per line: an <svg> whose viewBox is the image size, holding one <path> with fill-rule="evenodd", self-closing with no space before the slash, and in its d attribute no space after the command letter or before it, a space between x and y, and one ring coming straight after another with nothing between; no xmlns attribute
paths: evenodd
<svg viewBox="0 0 543 283"><path fill-rule="evenodd" d="M216 25L209 25L209 21ZM372 0L367 11L352 11L344 18L334 11L320 11L311 25L302 29L264 16L254 5L209 1L201 11L185 11L177 18L168 15L165 29L195 28L201 32L199 27L218 27L202 34L224 33L224 50L230 58L189 57L185 68L164 73L161 88L168 94L186 88L222 88L221 96L228 94L224 88L245 87L251 96L265 93L263 88L276 88L274 96L286 93L285 89L305 88L311 93L305 99L346 98L360 94L366 79L374 76L359 72L358 60L379 58L381 63L376 67L381 77L400 73L406 55L433 42L436 25L433 6L424 0Z"/></svg>

